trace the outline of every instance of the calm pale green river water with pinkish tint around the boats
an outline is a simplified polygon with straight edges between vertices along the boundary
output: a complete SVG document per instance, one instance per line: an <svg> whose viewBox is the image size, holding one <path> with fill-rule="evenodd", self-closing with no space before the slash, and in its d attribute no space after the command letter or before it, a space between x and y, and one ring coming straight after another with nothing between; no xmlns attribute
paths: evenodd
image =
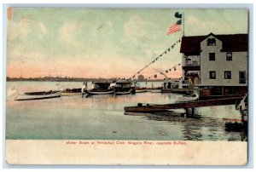
<svg viewBox="0 0 256 172"><path fill-rule="evenodd" d="M8 82L6 89L7 139L64 140L241 140L241 133L224 131L224 118L240 118L235 106L196 109L198 118L181 117L183 110L133 116L124 106L138 102L166 104L176 94L140 93L81 98L15 101L16 92L56 89L55 82ZM80 88L82 83L61 83ZM161 83L153 83L158 87ZM146 86L146 83L141 83ZM152 87L152 83L147 83ZM90 87L90 83L89 83Z"/></svg>

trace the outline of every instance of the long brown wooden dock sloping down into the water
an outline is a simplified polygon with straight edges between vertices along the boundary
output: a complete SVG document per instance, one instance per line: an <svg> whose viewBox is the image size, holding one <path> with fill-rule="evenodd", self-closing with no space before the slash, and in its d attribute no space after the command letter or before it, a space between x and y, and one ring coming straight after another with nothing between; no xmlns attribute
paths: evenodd
<svg viewBox="0 0 256 172"><path fill-rule="evenodd" d="M169 109L185 109L188 113L189 109L192 110L192 115L194 115L195 107L202 106L221 106L221 105L235 105L239 102L243 96L236 96L230 98L214 99L214 100L197 100L181 103L172 103L165 105L153 105L153 104L143 104L138 103L137 106L126 106L125 112L160 112Z"/></svg>

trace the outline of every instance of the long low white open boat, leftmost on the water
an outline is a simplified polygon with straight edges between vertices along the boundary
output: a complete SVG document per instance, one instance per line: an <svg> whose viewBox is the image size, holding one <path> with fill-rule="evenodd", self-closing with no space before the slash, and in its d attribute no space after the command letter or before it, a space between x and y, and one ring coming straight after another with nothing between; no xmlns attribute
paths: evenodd
<svg viewBox="0 0 256 172"><path fill-rule="evenodd" d="M61 90L49 90L40 92L28 92L23 95L18 95L15 100L41 100L61 97Z"/></svg>

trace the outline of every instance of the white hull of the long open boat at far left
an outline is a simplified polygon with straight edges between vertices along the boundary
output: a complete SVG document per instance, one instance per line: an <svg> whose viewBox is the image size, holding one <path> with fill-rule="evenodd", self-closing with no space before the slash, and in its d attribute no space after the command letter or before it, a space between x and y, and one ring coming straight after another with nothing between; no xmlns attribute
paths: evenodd
<svg viewBox="0 0 256 172"><path fill-rule="evenodd" d="M41 100L61 97L61 91L49 95L18 95L15 100Z"/></svg>

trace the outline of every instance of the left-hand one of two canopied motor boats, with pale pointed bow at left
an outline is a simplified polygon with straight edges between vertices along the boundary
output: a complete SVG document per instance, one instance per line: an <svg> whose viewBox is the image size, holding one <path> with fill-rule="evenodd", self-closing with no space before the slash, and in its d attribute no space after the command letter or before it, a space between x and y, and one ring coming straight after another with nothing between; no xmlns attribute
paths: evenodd
<svg viewBox="0 0 256 172"><path fill-rule="evenodd" d="M114 93L114 85L111 82L94 82L92 88L85 92L88 95L111 95Z"/></svg>

